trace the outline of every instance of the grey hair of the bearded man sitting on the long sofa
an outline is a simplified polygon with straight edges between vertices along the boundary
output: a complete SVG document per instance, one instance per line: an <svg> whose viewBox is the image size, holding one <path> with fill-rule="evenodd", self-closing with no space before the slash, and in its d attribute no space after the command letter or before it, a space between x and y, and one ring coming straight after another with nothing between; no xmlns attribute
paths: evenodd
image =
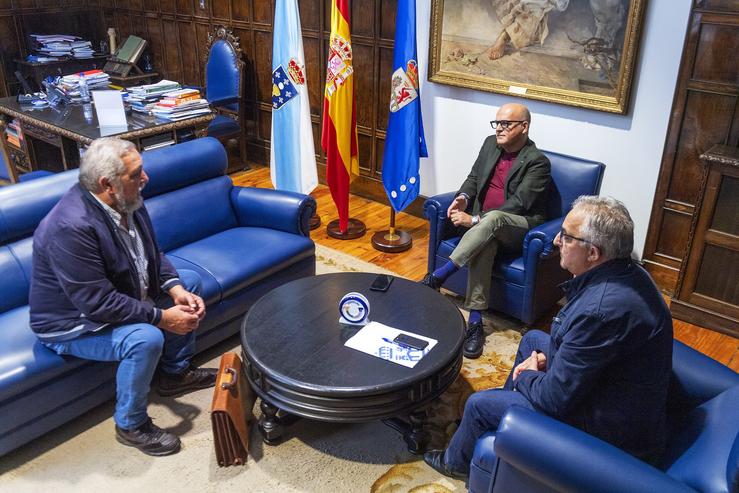
<svg viewBox="0 0 739 493"><path fill-rule="evenodd" d="M122 157L135 150L136 146L128 140L115 137L94 140L80 162L80 183L93 193L102 191L100 178L120 183L121 175L126 171Z"/></svg>

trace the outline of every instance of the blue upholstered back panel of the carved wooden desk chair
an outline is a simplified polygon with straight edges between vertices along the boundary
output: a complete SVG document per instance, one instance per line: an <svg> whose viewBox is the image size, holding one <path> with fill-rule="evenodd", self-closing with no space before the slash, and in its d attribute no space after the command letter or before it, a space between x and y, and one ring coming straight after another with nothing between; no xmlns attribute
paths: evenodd
<svg viewBox="0 0 739 493"><path fill-rule="evenodd" d="M239 66L236 51L228 41L219 39L210 47L205 64L205 94L208 101L239 96ZM238 111L238 104L225 105Z"/></svg>

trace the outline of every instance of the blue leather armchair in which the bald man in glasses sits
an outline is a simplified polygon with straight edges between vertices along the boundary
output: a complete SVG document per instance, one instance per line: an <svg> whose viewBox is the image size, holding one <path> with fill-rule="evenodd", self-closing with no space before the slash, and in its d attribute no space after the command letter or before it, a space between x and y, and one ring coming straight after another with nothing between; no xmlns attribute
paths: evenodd
<svg viewBox="0 0 739 493"><path fill-rule="evenodd" d="M520 254L496 256L491 280L490 308L531 324L561 297L557 285L572 276L559 266L559 251L552 241L562 227L564 216L580 195L597 195L605 165L545 151L552 163L552 189L547 205L550 221L531 229ZM426 200L424 214L430 225L428 271L444 265L459 243L459 237L444 236L446 211L456 192ZM467 267L457 271L444 287L464 295Z"/></svg>

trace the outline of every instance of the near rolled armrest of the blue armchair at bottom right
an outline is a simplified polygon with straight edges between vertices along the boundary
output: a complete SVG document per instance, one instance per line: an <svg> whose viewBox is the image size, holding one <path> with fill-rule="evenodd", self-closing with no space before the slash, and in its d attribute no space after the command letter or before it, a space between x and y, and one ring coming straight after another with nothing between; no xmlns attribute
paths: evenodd
<svg viewBox="0 0 739 493"><path fill-rule="evenodd" d="M495 454L554 491L695 491L617 447L518 406L498 426Z"/></svg>

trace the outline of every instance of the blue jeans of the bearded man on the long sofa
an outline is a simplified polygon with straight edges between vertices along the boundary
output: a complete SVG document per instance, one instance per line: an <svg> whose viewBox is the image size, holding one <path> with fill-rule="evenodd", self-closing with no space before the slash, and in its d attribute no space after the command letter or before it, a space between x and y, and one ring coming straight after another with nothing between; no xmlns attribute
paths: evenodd
<svg viewBox="0 0 739 493"><path fill-rule="evenodd" d="M202 280L196 272L181 270L178 274L186 290L200 294ZM155 303L162 309L174 304L166 293ZM149 419L146 406L157 363L161 362L162 371L166 373L181 373L190 366L195 354L195 331L178 335L151 324L126 324L45 345L58 354L95 361L120 361L113 419L118 427L131 430Z"/></svg>

